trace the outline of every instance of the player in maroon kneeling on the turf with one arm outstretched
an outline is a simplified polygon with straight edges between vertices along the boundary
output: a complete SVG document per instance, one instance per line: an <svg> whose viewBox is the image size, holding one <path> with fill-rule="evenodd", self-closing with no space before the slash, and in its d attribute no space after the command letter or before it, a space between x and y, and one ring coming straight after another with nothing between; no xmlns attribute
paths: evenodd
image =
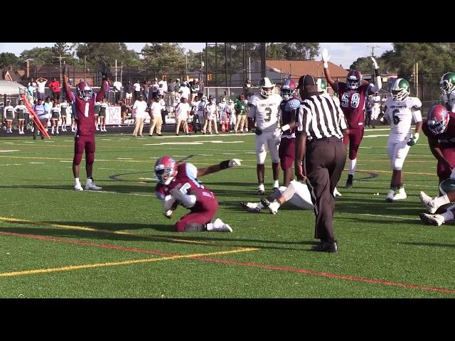
<svg viewBox="0 0 455 341"><path fill-rule="evenodd" d="M156 161L158 184L155 192L156 197L163 200L164 216L171 218L178 204L191 210L178 220L176 232L232 232L231 227L219 218L213 221L218 211L218 200L208 188L198 182L198 177L240 165L240 161L233 158L200 169L193 163L177 164L171 156L162 156Z"/></svg>

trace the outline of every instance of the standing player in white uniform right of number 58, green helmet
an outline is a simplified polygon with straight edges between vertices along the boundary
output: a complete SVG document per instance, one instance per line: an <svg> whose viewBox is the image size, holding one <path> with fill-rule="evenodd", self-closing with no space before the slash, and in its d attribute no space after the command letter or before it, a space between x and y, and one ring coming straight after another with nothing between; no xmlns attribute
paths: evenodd
<svg viewBox="0 0 455 341"><path fill-rule="evenodd" d="M417 97L410 97L410 83L398 78L392 85L392 97L385 101L385 115L381 118L390 122L390 136L387 141L387 155L392 166L392 180L387 193L388 202L404 200L407 195L403 186L402 167L411 146L417 143L422 131L422 102ZM412 119L416 124L414 136L411 133ZM397 193L395 193L397 191Z"/></svg>

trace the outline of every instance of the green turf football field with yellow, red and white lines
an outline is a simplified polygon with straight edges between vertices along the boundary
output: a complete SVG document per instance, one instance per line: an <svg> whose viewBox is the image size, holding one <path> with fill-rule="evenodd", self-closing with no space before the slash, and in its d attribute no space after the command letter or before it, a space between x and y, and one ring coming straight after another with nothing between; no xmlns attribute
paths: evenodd
<svg viewBox="0 0 455 341"><path fill-rule="evenodd" d="M455 298L455 224L423 224L419 191L437 195L436 160L421 134L403 168L407 200L385 202L388 126L365 130L354 188L346 163L336 199L335 254L310 251L314 212L242 210L258 201L255 135L134 138L98 134L94 179L73 190L72 136L0 138L1 298ZM198 168L232 233L177 233L154 195L156 158ZM80 179L85 185L85 161ZM282 183L282 173L280 173ZM267 156L265 186L271 191Z"/></svg>

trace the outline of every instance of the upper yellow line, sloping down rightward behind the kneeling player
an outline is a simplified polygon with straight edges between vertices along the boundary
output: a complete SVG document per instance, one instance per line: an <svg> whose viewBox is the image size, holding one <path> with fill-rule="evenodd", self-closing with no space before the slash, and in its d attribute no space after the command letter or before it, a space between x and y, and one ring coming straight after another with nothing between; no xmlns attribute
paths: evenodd
<svg viewBox="0 0 455 341"><path fill-rule="evenodd" d="M80 231L90 231L90 232L102 232L107 234L122 234L132 237L140 237L144 239L164 239L164 240L171 240L172 242L180 242L180 243L191 243L191 244L204 244L204 245L212 245L208 242L198 242L196 240L187 240L187 239L176 239L176 238L169 238L169 237L161 237L161 236L148 236L148 235L141 235L141 234L133 234L124 231L111 231L109 229L94 229L93 227L83 227L83 226L75 226L75 225L66 225L66 224L52 224L48 222L34 222L33 220L24 220L24 219L17 219L11 217L0 217L0 221L2 222L12 222L14 224L32 224L39 227L61 227L64 229L77 229Z"/></svg>

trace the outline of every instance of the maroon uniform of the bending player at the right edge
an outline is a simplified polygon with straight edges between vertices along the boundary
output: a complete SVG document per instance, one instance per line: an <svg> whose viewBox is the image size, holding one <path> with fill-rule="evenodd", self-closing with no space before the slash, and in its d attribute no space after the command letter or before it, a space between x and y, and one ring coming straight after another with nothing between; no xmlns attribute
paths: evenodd
<svg viewBox="0 0 455 341"><path fill-rule="evenodd" d="M427 124L422 125L422 131L428 137L430 145L441 149L442 155L449 162L451 168L455 167L455 114L449 112L449 124L442 134L433 134L429 130ZM451 174L451 168L447 167L445 163L438 160L437 175L439 181L448 179Z"/></svg>

